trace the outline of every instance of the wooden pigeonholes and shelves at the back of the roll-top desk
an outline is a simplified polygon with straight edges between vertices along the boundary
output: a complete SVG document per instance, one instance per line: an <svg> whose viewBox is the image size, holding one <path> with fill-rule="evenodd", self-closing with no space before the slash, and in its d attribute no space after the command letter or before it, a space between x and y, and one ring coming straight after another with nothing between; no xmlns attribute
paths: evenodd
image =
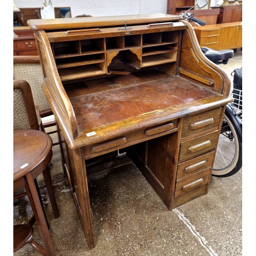
<svg viewBox="0 0 256 256"><path fill-rule="evenodd" d="M81 33L75 37L72 35L74 31L66 35L56 34L59 39L52 41L51 46L60 79L68 81L111 73L108 67L117 55L137 70L176 62L179 30L173 31L170 27L170 31L144 34L141 28L134 28L138 34L120 35L120 30L115 28L116 36L104 37L104 33L108 33L102 29L103 33L99 34L102 38L91 39L90 33L84 35L88 39L82 39Z"/></svg>

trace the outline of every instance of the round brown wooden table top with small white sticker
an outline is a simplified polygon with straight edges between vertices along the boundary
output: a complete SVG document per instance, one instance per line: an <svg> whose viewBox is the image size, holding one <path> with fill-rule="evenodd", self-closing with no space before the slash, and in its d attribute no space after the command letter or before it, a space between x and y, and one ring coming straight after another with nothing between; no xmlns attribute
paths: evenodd
<svg viewBox="0 0 256 256"><path fill-rule="evenodd" d="M51 160L52 139L47 133L38 130L13 130L13 181L40 165L49 164L44 161L49 157Z"/></svg>

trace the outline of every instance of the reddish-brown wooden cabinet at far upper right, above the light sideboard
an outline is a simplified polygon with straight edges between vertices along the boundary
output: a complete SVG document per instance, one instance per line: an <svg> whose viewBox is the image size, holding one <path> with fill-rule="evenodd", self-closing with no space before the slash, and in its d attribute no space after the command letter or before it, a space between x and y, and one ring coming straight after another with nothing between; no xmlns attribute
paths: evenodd
<svg viewBox="0 0 256 256"><path fill-rule="evenodd" d="M219 8L220 14L218 15L218 24L231 23L231 22L242 22L242 5L229 5L212 7L212 9Z"/></svg>

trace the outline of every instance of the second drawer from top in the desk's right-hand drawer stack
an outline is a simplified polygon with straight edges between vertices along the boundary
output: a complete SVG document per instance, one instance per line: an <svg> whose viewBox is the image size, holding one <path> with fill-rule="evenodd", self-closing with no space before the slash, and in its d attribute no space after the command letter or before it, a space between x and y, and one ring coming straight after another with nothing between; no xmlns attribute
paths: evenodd
<svg viewBox="0 0 256 256"><path fill-rule="evenodd" d="M200 154L206 153L217 147L219 141L219 131L208 133L195 139L190 139L181 142L180 146L180 158L179 160L185 160Z"/></svg>

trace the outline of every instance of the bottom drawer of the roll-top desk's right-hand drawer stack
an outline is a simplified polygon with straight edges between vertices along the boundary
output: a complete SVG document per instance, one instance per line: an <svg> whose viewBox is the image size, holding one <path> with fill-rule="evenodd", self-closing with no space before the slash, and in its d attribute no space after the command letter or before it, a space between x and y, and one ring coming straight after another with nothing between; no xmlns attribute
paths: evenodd
<svg viewBox="0 0 256 256"><path fill-rule="evenodd" d="M210 180L211 167L202 170L201 172L191 175L186 179L182 179L176 183L175 197L186 193L193 193L195 188L206 185Z"/></svg>

